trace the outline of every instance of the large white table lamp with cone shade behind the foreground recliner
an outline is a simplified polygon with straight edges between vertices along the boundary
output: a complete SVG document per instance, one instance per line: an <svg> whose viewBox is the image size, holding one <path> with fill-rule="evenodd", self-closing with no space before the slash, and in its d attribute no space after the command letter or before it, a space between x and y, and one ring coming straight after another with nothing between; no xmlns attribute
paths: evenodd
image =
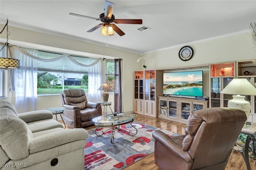
<svg viewBox="0 0 256 170"><path fill-rule="evenodd" d="M256 95L256 88L247 79L233 79L220 93L233 95L233 99L228 101L228 107L243 110L248 119L250 102L245 101L245 96L240 95Z"/></svg>

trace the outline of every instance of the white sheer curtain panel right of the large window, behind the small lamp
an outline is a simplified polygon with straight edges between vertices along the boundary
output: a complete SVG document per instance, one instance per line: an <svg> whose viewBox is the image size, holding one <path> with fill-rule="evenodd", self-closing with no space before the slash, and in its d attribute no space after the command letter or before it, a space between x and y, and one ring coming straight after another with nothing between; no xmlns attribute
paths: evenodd
<svg viewBox="0 0 256 170"><path fill-rule="evenodd" d="M95 59L91 59L91 63L95 62ZM88 72L88 101L90 102L100 102L100 93L98 90L102 84L102 62L90 67Z"/></svg>

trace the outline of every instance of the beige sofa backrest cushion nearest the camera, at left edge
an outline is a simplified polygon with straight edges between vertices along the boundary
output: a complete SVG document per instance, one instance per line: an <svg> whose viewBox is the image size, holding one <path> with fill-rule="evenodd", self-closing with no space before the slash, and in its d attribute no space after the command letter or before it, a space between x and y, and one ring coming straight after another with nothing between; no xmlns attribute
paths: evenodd
<svg viewBox="0 0 256 170"><path fill-rule="evenodd" d="M1 108L0 134L0 145L10 159L22 159L29 155L29 140L33 134L26 123L9 108Z"/></svg>

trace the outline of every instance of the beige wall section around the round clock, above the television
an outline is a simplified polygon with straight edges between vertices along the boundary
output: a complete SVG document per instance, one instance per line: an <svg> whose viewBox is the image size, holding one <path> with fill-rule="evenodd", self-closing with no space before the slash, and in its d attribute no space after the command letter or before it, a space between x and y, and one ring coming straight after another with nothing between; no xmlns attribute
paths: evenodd
<svg viewBox="0 0 256 170"><path fill-rule="evenodd" d="M249 33L188 45L194 50L194 55L189 61L182 61L178 57L182 47L180 46L144 54L147 68L181 67L256 58L256 48Z"/></svg>

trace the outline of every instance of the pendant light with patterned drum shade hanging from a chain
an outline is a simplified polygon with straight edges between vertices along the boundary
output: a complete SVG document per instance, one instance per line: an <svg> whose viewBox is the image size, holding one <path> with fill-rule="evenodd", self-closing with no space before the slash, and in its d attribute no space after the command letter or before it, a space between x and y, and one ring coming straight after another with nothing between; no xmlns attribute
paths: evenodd
<svg viewBox="0 0 256 170"><path fill-rule="evenodd" d="M18 68L20 68L20 60L12 58L10 44L8 43L8 36L10 35L10 32L8 31L8 19L7 19L7 22L4 26L4 28L5 27L6 27L6 31L7 31L6 43L4 43L4 47L6 47L6 58L0 57L0 68L18 69ZM4 31L4 28L0 32L0 34ZM0 51L2 51L2 49L4 49L4 47L2 47L0 49ZM10 58L8 58L8 52L10 53Z"/></svg>

